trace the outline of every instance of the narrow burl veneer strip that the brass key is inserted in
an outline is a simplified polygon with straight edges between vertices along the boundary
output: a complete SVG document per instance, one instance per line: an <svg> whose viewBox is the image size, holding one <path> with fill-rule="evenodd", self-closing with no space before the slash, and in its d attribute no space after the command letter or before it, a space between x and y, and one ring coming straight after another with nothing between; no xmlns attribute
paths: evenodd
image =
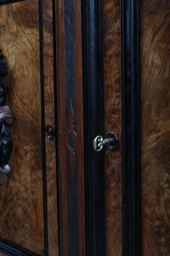
<svg viewBox="0 0 170 256"><path fill-rule="evenodd" d="M121 142L120 1L104 0L105 134L115 131ZM121 144L121 143L120 143ZM121 148L105 150L106 253L122 255Z"/></svg>

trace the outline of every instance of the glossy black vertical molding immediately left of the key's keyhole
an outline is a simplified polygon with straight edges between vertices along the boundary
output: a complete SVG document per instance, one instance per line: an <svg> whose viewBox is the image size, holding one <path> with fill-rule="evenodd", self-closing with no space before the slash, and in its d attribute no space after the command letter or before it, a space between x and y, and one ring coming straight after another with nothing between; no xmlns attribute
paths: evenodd
<svg viewBox="0 0 170 256"><path fill-rule="evenodd" d="M101 0L82 1L82 81L86 255L105 255L105 153L93 148L105 135L103 7Z"/></svg>

